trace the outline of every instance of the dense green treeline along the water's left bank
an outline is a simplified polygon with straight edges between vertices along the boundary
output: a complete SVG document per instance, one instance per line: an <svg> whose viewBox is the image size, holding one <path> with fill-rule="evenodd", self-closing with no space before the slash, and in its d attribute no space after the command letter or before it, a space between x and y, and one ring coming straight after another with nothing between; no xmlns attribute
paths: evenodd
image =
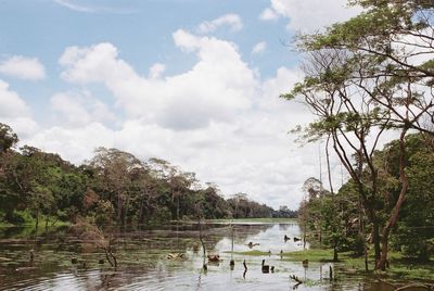
<svg viewBox="0 0 434 291"><path fill-rule="evenodd" d="M238 193L225 199L214 184L201 186L159 159L141 161L117 149L98 148L80 166L59 154L24 146L0 124L0 222L23 224L40 217L98 225L148 224L170 219L294 217L286 207L271 207ZM49 219L44 219L49 222Z"/></svg>

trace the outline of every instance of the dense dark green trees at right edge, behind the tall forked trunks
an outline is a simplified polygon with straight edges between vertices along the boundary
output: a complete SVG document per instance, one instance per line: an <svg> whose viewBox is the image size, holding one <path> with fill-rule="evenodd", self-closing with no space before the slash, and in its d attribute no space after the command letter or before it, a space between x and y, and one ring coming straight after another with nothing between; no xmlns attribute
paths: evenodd
<svg viewBox="0 0 434 291"><path fill-rule="evenodd" d="M433 138L426 135L409 135L405 140L406 164L409 185L406 203L403 205L400 220L397 223L395 236L392 238L392 245L404 251L409 257L426 261L434 253L433 225L434 217L434 174L432 163L434 151L426 141ZM386 189L386 201L392 204L399 197L399 142L393 141L385 146L378 159L384 165L385 176L391 187ZM379 161L379 162L380 162Z"/></svg>

